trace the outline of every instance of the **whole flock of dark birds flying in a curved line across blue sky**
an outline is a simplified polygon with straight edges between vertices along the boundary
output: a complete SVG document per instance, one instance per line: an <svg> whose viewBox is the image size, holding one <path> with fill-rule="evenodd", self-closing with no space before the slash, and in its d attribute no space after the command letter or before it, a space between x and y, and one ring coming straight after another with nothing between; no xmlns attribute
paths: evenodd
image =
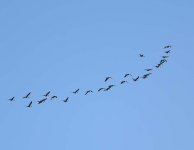
<svg viewBox="0 0 194 150"><path fill-rule="evenodd" d="M166 51L165 51L165 55L163 55L162 56L162 59L160 60L160 62L156 65L156 66L154 66L154 67L156 67L156 68L160 68L164 63L166 63L167 62L167 58L169 57L169 54L170 54L170 52L171 52L171 49L172 48L172 46L171 45L167 45L167 46L164 46L164 49L167 49ZM144 54L139 54L139 57L140 58L144 58L145 57L145 55ZM132 80L134 81L134 82L137 82L140 78L142 78L142 79L147 79L151 74L152 74L152 68L148 68L148 69L145 69L145 71L146 71L146 74L144 74L142 77L140 77L140 76L137 76L137 77L133 77L133 75L132 74L125 74L124 75L124 79L127 79L128 77L131 77L132 78ZM104 82L108 82L109 80L111 80L112 79L112 77L106 77L105 78L105 80L104 80ZM122 84L125 84L125 83L127 83L128 81L127 80L122 80L121 82L120 82L120 84L122 85ZM105 92L107 92L107 91L109 91L109 90L111 90L114 86L116 86L116 85L109 85L107 88L99 88L98 90L97 90L97 92L101 92L101 91L105 91ZM80 89L78 88L78 89L76 89L74 92L72 92L73 94L78 94L79 93L79 91L80 91ZM93 93L94 91L92 91L92 90L88 90L88 91L86 91L85 92L85 95L88 95L88 94L90 94L90 93ZM50 96L50 94L51 94L51 91L48 91L46 94L44 94L43 95L43 98L41 99L41 100L39 100L39 101L37 101L36 103L37 104L43 104L44 102L46 102L47 100L53 100L53 99L57 99L58 97L56 96L56 95L53 95L53 96ZM28 99L28 98L30 98L30 95L31 95L31 92L29 92L26 96L24 96L24 97L22 97L23 99ZM14 101L16 98L15 97L12 97L12 98L10 98L9 99L9 101ZM67 97L67 98L65 98L64 100L62 100L64 103L67 103L68 101L69 101L69 97ZM33 101L30 101L29 102L29 104L26 106L27 108L31 108L32 107L32 105L33 105Z"/></svg>

